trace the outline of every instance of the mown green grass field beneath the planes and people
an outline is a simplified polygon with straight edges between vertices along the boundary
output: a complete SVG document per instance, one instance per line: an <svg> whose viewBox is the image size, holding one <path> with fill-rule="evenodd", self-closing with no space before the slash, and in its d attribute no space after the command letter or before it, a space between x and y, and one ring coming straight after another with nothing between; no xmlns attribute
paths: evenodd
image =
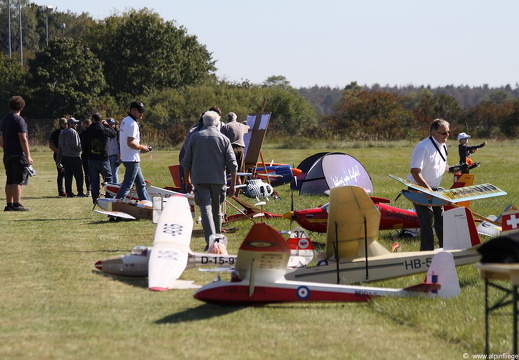
<svg viewBox="0 0 519 360"><path fill-rule="evenodd" d="M472 141L477 143L477 141ZM450 162L457 157L450 141ZM372 143L333 146L356 157L370 173L375 195L398 207L411 204L396 196L401 185L387 174L405 177L414 144ZM476 183L492 183L507 196L472 203L482 215L498 214L518 203L516 142L490 142L473 158ZM297 165L328 149L290 150L271 145L266 161ZM376 299L367 304L288 304L227 308L193 299L192 290L152 293L146 279L117 278L94 268L102 258L128 253L135 245L151 245L149 221L108 222L92 212L90 198L56 196L55 167L49 149L33 149L37 176L24 188L27 213L0 216L0 357L2 359L463 359L484 351L484 286L473 265L458 268L462 287L454 299ZM142 162L145 177L156 186L172 185L167 169L177 151L155 151ZM5 174L0 174L4 183ZM452 177L444 176L449 187ZM266 210L290 210L290 190L278 188L281 200ZM2 192L0 200L5 203ZM296 208L314 207L326 197L295 196ZM232 211L229 210L229 213ZM288 230L287 220L269 221ZM229 250L235 253L250 221L233 224ZM380 233L390 245L396 232ZM325 238L311 234L317 242ZM416 250L419 240L404 240L403 251ZM195 224L191 247L205 245ZM214 274L187 270L183 279L205 284ZM226 277L227 275L222 275ZM421 282L422 275L378 282L402 287ZM510 351L511 310L492 316L491 351Z"/></svg>

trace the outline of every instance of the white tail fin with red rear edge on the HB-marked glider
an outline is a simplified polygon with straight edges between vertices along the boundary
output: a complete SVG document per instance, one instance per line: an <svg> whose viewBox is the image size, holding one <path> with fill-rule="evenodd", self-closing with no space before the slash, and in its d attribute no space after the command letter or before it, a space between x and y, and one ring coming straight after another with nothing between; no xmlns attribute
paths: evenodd
<svg viewBox="0 0 519 360"><path fill-rule="evenodd" d="M443 213L443 248L468 249L481 243L472 216L466 207L457 207Z"/></svg>

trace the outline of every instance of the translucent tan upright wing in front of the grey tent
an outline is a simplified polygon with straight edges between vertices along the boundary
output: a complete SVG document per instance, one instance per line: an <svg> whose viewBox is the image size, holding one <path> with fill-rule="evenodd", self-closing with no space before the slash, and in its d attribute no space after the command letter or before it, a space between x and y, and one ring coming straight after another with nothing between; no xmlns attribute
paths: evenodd
<svg viewBox="0 0 519 360"><path fill-rule="evenodd" d="M364 189L357 186L330 189L328 213L328 258L335 255L336 244L339 259L365 256L365 241L368 256L388 253L376 241L381 215Z"/></svg>

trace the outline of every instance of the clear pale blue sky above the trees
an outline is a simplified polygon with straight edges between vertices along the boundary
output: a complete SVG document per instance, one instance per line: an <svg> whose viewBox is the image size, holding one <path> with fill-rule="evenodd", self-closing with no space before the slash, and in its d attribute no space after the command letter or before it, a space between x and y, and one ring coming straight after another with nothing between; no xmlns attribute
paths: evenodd
<svg viewBox="0 0 519 360"><path fill-rule="evenodd" d="M33 2L98 20L147 7L195 35L230 82L519 86L517 0L45 1Z"/></svg>

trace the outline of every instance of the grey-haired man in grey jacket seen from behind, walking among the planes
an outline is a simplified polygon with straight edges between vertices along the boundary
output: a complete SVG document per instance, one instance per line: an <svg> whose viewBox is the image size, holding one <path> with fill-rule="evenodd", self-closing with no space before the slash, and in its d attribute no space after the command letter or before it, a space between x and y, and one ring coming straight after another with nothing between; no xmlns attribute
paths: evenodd
<svg viewBox="0 0 519 360"><path fill-rule="evenodd" d="M203 122L202 130L192 134L181 165L186 188L188 191L194 188L195 201L200 207L207 250L209 236L222 231L221 205L225 201L227 182L225 170L231 174L228 191L229 196L233 196L238 165L230 140L218 131L220 115L207 111Z"/></svg>

